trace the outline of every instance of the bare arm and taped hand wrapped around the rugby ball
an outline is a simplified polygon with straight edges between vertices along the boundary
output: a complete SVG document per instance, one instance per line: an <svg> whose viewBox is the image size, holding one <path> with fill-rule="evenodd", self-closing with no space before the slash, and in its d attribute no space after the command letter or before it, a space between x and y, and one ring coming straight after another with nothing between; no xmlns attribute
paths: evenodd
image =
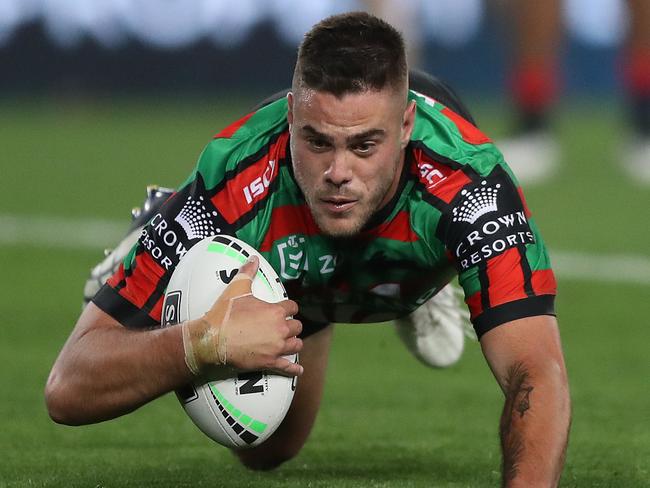
<svg viewBox="0 0 650 488"><path fill-rule="evenodd" d="M224 364L302 374L302 366L282 357L302 348L302 325L288 319L298 306L253 297L256 273L257 262L249 261L203 318L164 329L127 329L90 303L47 380L52 419L79 425L123 415L189 382L188 366L196 374Z"/></svg>

